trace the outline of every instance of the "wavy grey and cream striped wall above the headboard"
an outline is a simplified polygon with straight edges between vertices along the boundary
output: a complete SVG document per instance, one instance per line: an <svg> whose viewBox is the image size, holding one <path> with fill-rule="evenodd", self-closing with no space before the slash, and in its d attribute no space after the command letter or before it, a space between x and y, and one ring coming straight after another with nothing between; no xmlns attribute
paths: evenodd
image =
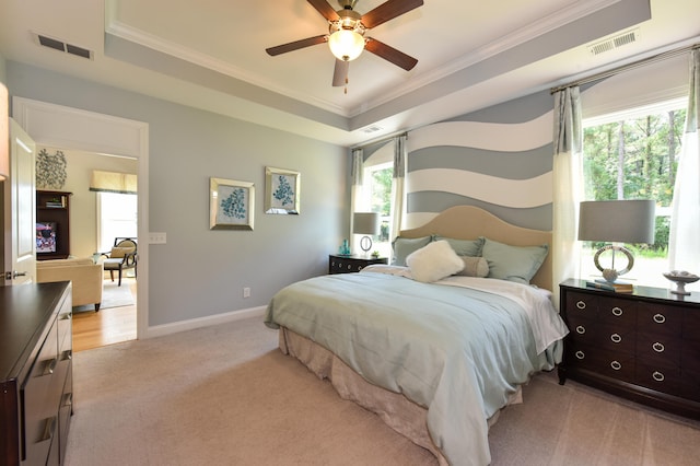
<svg viewBox="0 0 700 466"><path fill-rule="evenodd" d="M540 92L409 132L405 228L470 205L551 230L552 118L553 97Z"/></svg>

